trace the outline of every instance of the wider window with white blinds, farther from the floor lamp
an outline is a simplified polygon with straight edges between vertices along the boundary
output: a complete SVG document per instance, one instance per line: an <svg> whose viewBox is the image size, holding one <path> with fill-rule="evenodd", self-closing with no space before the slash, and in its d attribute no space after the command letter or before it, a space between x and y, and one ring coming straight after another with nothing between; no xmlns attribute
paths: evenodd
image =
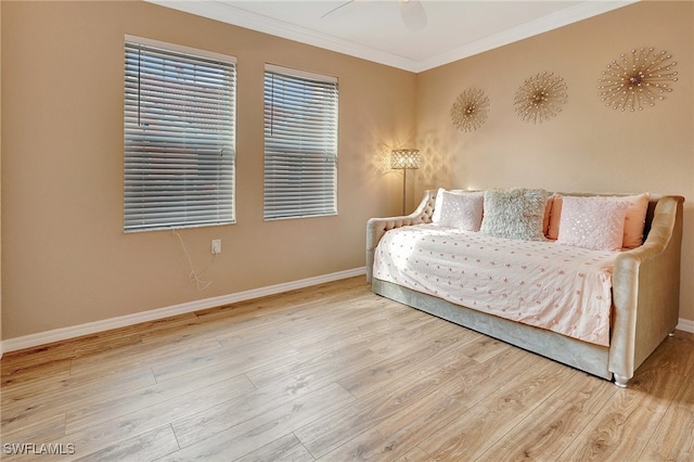
<svg viewBox="0 0 694 462"><path fill-rule="evenodd" d="M124 228L233 223L235 61L125 43Z"/></svg>

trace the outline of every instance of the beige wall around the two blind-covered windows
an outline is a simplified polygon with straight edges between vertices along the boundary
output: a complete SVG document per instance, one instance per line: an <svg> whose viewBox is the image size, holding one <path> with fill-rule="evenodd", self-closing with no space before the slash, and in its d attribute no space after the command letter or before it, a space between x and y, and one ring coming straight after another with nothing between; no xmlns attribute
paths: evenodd
<svg viewBox="0 0 694 462"><path fill-rule="evenodd" d="M364 265L369 217L399 211L389 147L414 140L416 76L144 2L2 1L3 339ZM123 232L130 34L237 57L237 223ZM338 216L264 222L266 62L339 78ZM385 181L384 181L385 180Z"/></svg>

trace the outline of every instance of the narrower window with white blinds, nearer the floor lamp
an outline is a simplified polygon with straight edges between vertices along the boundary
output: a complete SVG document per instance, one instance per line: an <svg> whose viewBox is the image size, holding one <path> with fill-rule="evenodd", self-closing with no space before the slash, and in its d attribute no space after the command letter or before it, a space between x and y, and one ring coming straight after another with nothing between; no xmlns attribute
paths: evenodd
<svg viewBox="0 0 694 462"><path fill-rule="evenodd" d="M337 79L266 65L266 220L337 214Z"/></svg>

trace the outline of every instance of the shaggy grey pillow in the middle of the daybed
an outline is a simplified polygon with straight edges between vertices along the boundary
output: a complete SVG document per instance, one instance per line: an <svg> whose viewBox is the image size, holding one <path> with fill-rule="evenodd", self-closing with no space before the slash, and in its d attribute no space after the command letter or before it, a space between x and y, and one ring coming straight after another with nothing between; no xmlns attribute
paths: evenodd
<svg viewBox="0 0 694 462"><path fill-rule="evenodd" d="M479 231L497 238L544 241L547 197L544 190L486 191Z"/></svg>

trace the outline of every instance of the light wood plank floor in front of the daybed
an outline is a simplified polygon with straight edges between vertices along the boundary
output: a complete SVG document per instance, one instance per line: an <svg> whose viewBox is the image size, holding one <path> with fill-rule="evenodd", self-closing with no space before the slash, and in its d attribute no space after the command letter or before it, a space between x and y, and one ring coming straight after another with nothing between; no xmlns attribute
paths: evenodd
<svg viewBox="0 0 694 462"><path fill-rule="evenodd" d="M354 278L7 354L1 405L3 460L692 461L694 334L621 389Z"/></svg>

